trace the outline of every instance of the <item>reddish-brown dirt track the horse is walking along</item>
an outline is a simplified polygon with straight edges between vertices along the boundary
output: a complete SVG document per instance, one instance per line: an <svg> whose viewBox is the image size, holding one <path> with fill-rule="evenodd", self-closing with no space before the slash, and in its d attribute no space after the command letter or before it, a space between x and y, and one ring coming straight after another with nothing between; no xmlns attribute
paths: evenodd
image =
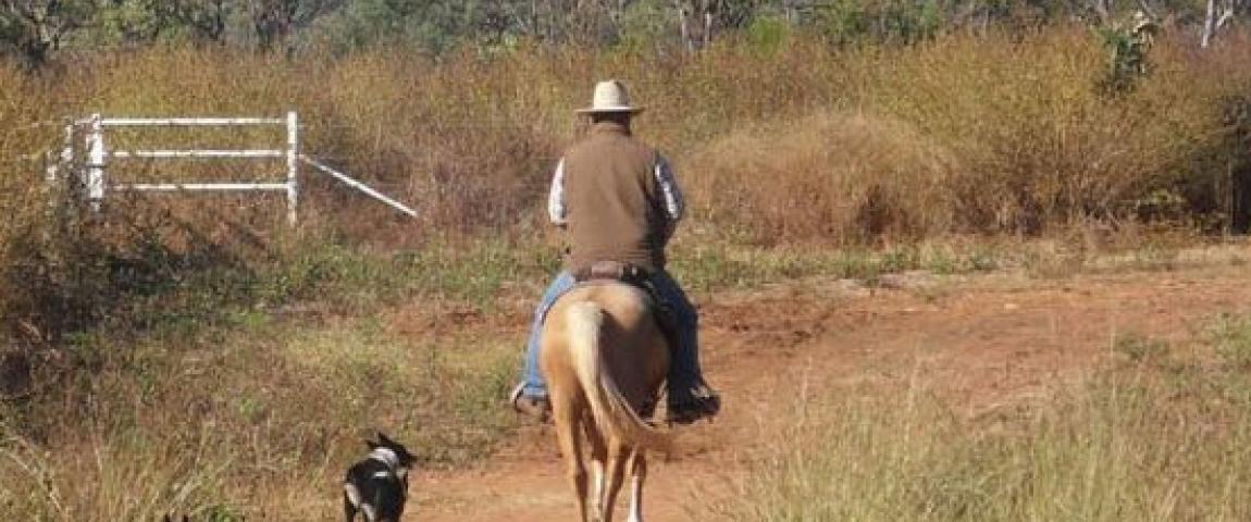
<svg viewBox="0 0 1251 522"><path fill-rule="evenodd" d="M683 428L667 462L653 458L646 514L713 519L753 452L778 441L796 397L871 379L937 384L970 416L1046 394L1116 357L1117 335L1185 344L1213 315L1247 312L1241 263L1167 272L1031 279L1025 275L891 280L866 289L803 282L718 293L699 303L706 371L726 397L713 424ZM527 428L479 469L415 477L414 519L574 519L552 434ZM624 502L623 502L624 503Z"/></svg>

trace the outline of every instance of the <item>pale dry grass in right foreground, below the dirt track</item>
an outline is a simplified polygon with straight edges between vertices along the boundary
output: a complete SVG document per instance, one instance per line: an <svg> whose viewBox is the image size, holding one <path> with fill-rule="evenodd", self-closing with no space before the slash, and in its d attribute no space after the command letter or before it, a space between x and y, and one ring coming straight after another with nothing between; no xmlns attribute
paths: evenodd
<svg viewBox="0 0 1251 522"><path fill-rule="evenodd" d="M1222 319L1220 353L1247 347ZM1223 347L1223 348L1222 348ZM965 418L922 386L802 407L762 459L743 521L1236 521L1251 516L1248 381L1236 366L1118 344L1110 368L1048 401ZM1222 356L1228 361L1230 356ZM1236 356L1235 356L1236 358Z"/></svg>

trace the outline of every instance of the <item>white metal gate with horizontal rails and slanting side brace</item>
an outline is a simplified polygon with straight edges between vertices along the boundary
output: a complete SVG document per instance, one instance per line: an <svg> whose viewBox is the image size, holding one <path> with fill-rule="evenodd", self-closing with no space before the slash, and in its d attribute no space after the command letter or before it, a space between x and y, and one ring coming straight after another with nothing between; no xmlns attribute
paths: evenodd
<svg viewBox="0 0 1251 522"><path fill-rule="evenodd" d="M273 149L154 149L154 150L110 150L106 144L105 133L116 128L231 128L231 126L285 126L286 141L283 148ZM352 179L347 174L332 169L317 159L301 154L300 125L296 113L286 113L285 118L104 118L93 114L88 119L76 120L65 126L65 144L60 158L55 165L48 170L49 182L55 182L60 171L76 171L80 189L94 212L99 212L109 192L280 192L286 195L286 219L294 225L296 223L296 209L299 207L299 165L304 163L320 173L328 174L335 180L374 198L388 207L392 207L409 217L417 213L409 207L388 198L387 195L369 188L368 185ZM83 136L85 160L79 169L74 169L79 150L75 148L78 136ZM234 159L234 160L275 160L281 159L286 165L286 177L281 182L255 182L255 183L109 183L108 169L113 160L149 159L149 160L203 160L203 159Z"/></svg>

